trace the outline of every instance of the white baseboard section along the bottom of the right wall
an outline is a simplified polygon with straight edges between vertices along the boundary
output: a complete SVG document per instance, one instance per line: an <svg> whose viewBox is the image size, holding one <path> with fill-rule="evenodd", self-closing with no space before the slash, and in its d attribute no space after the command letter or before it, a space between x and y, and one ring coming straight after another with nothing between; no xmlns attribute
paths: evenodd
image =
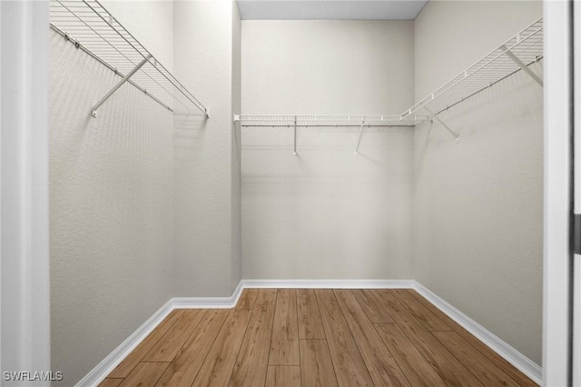
<svg viewBox="0 0 581 387"><path fill-rule="evenodd" d="M507 362L514 365L520 372L527 375L533 382L541 385L543 380L543 370L537 363L531 361L521 352L518 352L507 342L500 339L493 332L488 331L485 327L469 318L466 314L460 312L450 303L439 297L436 293L431 292L421 283L415 282L414 289L421 294L426 300L434 304L440 311L446 313L449 318L460 324L468 332L472 333L481 342L484 342L490 349L497 352Z"/></svg>

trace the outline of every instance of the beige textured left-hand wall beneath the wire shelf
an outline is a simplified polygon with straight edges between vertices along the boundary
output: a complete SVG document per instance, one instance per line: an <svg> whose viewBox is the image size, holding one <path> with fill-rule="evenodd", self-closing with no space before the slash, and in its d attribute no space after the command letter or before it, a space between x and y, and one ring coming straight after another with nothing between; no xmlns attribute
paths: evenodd
<svg viewBox="0 0 581 387"><path fill-rule="evenodd" d="M74 385L172 297L172 114L125 84L92 118L119 79L51 33L53 385Z"/></svg>

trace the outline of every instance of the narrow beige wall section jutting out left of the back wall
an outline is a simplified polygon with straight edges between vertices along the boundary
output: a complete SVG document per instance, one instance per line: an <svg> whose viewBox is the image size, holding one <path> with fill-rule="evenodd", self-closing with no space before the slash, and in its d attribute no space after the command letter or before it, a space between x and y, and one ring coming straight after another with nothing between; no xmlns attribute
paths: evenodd
<svg viewBox="0 0 581 387"><path fill-rule="evenodd" d="M174 3L175 74L210 114L174 114L175 296L229 296L240 278L232 194L234 6Z"/></svg>

